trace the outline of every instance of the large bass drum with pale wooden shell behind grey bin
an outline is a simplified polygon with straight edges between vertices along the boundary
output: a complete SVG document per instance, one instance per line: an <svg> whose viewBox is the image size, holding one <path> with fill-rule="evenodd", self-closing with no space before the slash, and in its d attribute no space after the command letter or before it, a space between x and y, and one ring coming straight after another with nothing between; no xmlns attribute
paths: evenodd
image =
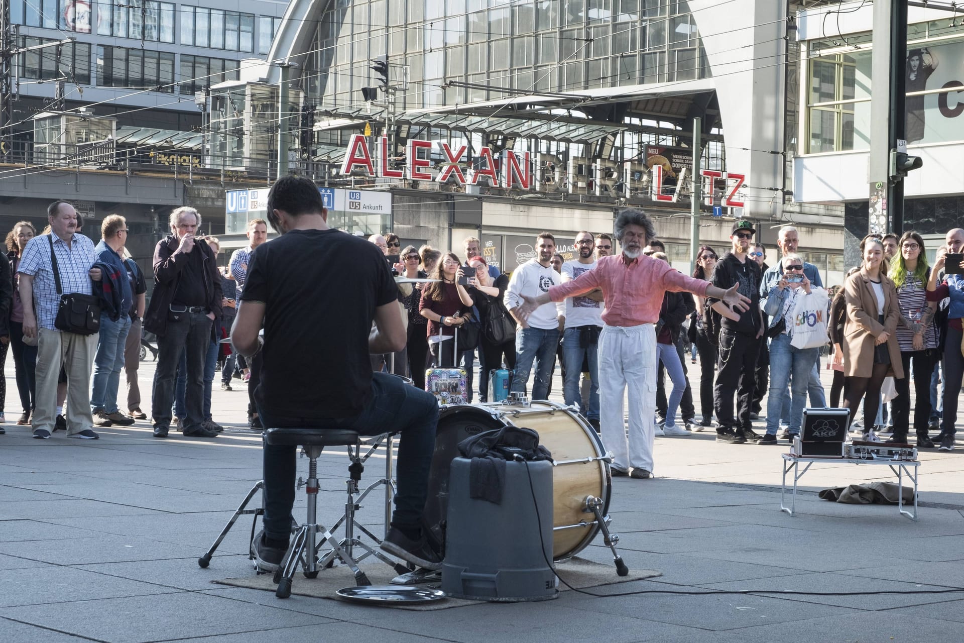
<svg viewBox="0 0 964 643"><path fill-rule="evenodd" d="M552 468L552 558L576 555L599 533L595 517L585 511L586 496L603 499L603 516L609 510L609 466L603 459L603 442L593 428L569 407L549 401L532 402L529 407L494 403L442 408L423 514L430 538L436 545L444 543L448 473L459 456L459 442L506 424L533 429L539 443L552 453L556 463Z"/></svg>

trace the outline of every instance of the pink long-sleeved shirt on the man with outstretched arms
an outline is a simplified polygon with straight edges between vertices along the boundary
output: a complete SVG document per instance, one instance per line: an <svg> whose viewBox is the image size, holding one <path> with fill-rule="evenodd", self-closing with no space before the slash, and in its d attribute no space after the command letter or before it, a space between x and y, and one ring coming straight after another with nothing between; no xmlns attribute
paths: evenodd
<svg viewBox="0 0 964 643"><path fill-rule="evenodd" d="M659 320L659 307L667 291L688 291L705 297L709 286L709 281L687 277L661 259L640 255L627 265L623 255L610 255L603 256L595 270L550 287L549 298L561 302L602 288L603 322L607 326L639 326Z"/></svg>

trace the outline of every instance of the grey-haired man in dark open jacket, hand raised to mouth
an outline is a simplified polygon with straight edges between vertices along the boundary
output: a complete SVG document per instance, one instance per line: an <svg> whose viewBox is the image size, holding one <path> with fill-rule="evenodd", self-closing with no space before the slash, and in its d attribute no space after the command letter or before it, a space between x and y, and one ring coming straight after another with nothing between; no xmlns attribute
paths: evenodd
<svg viewBox="0 0 964 643"><path fill-rule="evenodd" d="M151 401L154 437L167 438L174 400L174 373L182 351L187 353L187 417L184 435L214 438L204 420L204 357L211 341L211 324L221 316L221 276L214 252L195 232L201 215L193 207L171 213L172 234L154 248L154 293L144 326L157 335L157 370Z"/></svg>

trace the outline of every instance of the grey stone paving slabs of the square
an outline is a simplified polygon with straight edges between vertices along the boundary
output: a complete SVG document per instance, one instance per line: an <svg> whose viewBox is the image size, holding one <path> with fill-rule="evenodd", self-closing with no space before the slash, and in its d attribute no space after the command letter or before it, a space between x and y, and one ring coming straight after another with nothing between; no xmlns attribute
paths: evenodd
<svg viewBox="0 0 964 643"><path fill-rule="evenodd" d="M691 372L693 370L691 369ZM698 372L698 371L697 371ZM16 399L13 366L8 400ZM149 391L152 362L144 362ZM561 391L556 382L554 390ZM254 574L250 522L238 522L211 561L197 558L260 478L260 439L244 428L247 396L214 393L213 440L172 432L155 440L147 422L99 430L96 442L30 439L6 424L0 436L0 641L319 640L481 641L959 641L964 591L858 596L765 591L912 592L964 587L962 452L927 451L920 522L894 506L817 499L827 486L892 479L885 467L820 465L801 480L799 514L779 509L786 446L713 442L711 431L656 439L656 478L614 481L610 513L630 568L662 576L564 592L544 603L485 603L438 611L372 608L214 584ZM15 418L8 410L8 417ZM762 431L758 428L758 431ZM376 478L384 461L372 460ZM343 454L326 454L319 512L340 514ZM304 475L307 461L299 460ZM381 496L379 496L381 497ZM383 507L366 503L362 522ZM298 516L296 508L295 515ZM582 552L610 562L597 542ZM376 563L368 563L376 564ZM560 568L560 574L564 574ZM323 571L351 577L343 569ZM296 576L295 583L301 576ZM660 591L753 591L692 596ZM656 593L653 593L656 592Z"/></svg>

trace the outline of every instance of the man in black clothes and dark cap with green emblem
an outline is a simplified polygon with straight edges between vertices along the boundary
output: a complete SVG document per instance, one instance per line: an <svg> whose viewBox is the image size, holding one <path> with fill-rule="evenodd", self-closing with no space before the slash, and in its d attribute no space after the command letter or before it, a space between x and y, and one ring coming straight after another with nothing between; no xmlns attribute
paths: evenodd
<svg viewBox="0 0 964 643"><path fill-rule="evenodd" d="M754 374L763 336L763 316L760 310L760 265L749 258L753 247L753 223L738 220L733 224L730 241L733 249L723 255L713 268L710 281L718 288L737 284L736 291L750 299L750 308L742 312L731 309L719 300L712 300L712 308L720 320L719 369L713 387L713 410L719 421L716 442L741 444L756 440L750 420L750 406L756 388ZM736 418L733 396L736 393Z"/></svg>

